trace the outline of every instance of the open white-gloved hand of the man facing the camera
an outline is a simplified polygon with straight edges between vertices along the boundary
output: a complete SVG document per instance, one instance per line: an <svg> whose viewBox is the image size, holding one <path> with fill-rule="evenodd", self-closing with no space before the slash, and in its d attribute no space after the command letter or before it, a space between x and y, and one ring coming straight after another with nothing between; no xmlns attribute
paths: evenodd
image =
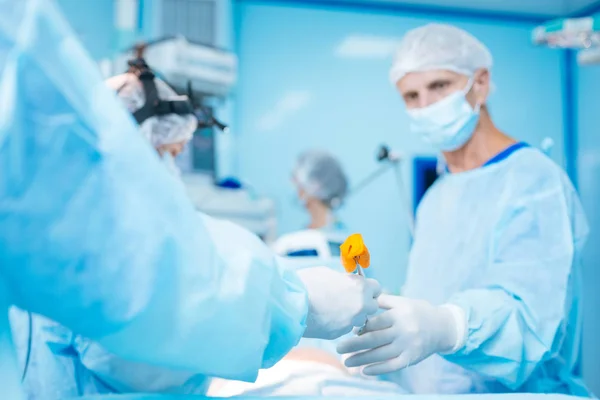
<svg viewBox="0 0 600 400"><path fill-rule="evenodd" d="M379 296L378 302L386 311L369 318L362 335L345 339L337 347L340 354L360 352L346 360L347 367L367 365L365 375L381 375L464 346L467 322L460 307L433 306L387 294Z"/></svg>

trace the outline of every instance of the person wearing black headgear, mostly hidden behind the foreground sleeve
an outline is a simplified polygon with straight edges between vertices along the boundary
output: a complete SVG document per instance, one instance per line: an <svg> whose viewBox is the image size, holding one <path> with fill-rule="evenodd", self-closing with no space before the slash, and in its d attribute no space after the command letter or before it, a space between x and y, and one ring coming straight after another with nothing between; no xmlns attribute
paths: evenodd
<svg viewBox="0 0 600 400"><path fill-rule="evenodd" d="M145 63L139 67L148 69ZM132 114L146 104L139 72L139 68L132 67L131 72L106 81ZM155 88L160 100L187 101L163 80L153 78L152 83L150 91ZM175 157L191 140L198 124L196 116L148 115L139 125L140 135L156 150L164 167L179 176ZM16 307L10 310L10 323L23 386L30 400L134 392L203 394L210 382L205 376L187 371L132 363L52 320Z"/></svg>

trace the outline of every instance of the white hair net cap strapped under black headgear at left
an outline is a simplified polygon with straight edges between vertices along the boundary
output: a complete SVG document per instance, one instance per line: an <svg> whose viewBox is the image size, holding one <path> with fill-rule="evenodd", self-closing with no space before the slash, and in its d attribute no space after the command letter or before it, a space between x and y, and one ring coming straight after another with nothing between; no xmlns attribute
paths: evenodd
<svg viewBox="0 0 600 400"><path fill-rule="evenodd" d="M181 100L186 96L179 96L163 80L155 78L156 90L161 100ZM144 106L146 95L142 83L132 73L117 75L106 80L106 84L118 91L119 98L129 112L134 113ZM195 115L167 114L151 117L142 122L140 132L155 148L167 144L189 141L198 126Z"/></svg>

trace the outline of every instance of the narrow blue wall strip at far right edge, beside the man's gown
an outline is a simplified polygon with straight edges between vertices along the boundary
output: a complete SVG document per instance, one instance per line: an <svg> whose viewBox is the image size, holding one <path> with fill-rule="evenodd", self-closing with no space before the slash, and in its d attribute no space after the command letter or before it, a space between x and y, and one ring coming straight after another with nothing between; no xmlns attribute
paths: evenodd
<svg viewBox="0 0 600 400"><path fill-rule="evenodd" d="M574 66L576 74L577 171L590 236L584 251L583 368L587 383L600 394L600 66Z"/></svg>

